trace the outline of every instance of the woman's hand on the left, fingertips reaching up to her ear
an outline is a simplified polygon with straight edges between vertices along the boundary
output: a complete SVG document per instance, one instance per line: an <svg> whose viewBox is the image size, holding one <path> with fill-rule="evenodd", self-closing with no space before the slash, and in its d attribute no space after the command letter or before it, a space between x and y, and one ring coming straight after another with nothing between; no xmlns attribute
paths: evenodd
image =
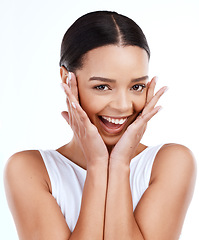
<svg viewBox="0 0 199 240"><path fill-rule="evenodd" d="M75 75L71 75L68 84L62 84L67 95L68 112L62 112L62 116L70 124L74 135L82 149L87 161L87 169L99 164L107 166L108 151L97 128L88 118L78 101L78 89Z"/></svg>

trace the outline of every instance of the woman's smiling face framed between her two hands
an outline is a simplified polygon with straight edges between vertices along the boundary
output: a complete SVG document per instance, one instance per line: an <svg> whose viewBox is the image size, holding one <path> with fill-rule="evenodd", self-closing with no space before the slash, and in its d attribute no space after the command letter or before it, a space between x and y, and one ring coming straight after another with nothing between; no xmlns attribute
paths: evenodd
<svg viewBox="0 0 199 240"><path fill-rule="evenodd" d="M80 104L104 142L113 146L146 101L148 56L137 46L89 51L76 71Z"/></svg>

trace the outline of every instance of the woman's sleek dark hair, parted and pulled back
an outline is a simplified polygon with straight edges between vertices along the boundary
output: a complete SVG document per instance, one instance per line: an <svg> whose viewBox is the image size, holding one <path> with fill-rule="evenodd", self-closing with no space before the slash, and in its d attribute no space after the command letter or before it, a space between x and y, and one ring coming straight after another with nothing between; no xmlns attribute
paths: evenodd
<svg viewBox="0 0 199 240"><path fill-rule="evenodd" d="M78 18L65 33L61 44L60 67L75 72L83 66L84 55L107 46L138 46L150 49L142 29L130 18L110 11L91 12Z"/></svg>

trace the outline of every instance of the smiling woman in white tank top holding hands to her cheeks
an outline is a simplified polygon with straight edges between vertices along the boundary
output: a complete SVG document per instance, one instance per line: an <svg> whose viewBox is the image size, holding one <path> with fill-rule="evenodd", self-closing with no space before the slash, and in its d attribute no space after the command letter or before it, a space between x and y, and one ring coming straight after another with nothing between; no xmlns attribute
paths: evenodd
<svg viewBox="0 0 199 240"><path fill-rule="evenodd" d="M74 136L57 150L14 154L5 187L20 239L178 239L195 162L178 144L140 143L158 113L150 50L131 19L79 18L61 46L60 74Z"/></svg>

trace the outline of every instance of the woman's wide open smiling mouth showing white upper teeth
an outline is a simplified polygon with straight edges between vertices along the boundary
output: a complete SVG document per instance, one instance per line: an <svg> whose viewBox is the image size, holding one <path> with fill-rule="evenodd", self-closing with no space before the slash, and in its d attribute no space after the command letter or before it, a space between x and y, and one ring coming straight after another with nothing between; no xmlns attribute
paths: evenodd
<svg viewBox="0 0 199 240"><path fill-rule="evenodd" d="M125 118L113 118L107 116L99 116L100 124L103 129L108 133L119 133L124 128L124 125L127 121L127 117Z"/></svg>

